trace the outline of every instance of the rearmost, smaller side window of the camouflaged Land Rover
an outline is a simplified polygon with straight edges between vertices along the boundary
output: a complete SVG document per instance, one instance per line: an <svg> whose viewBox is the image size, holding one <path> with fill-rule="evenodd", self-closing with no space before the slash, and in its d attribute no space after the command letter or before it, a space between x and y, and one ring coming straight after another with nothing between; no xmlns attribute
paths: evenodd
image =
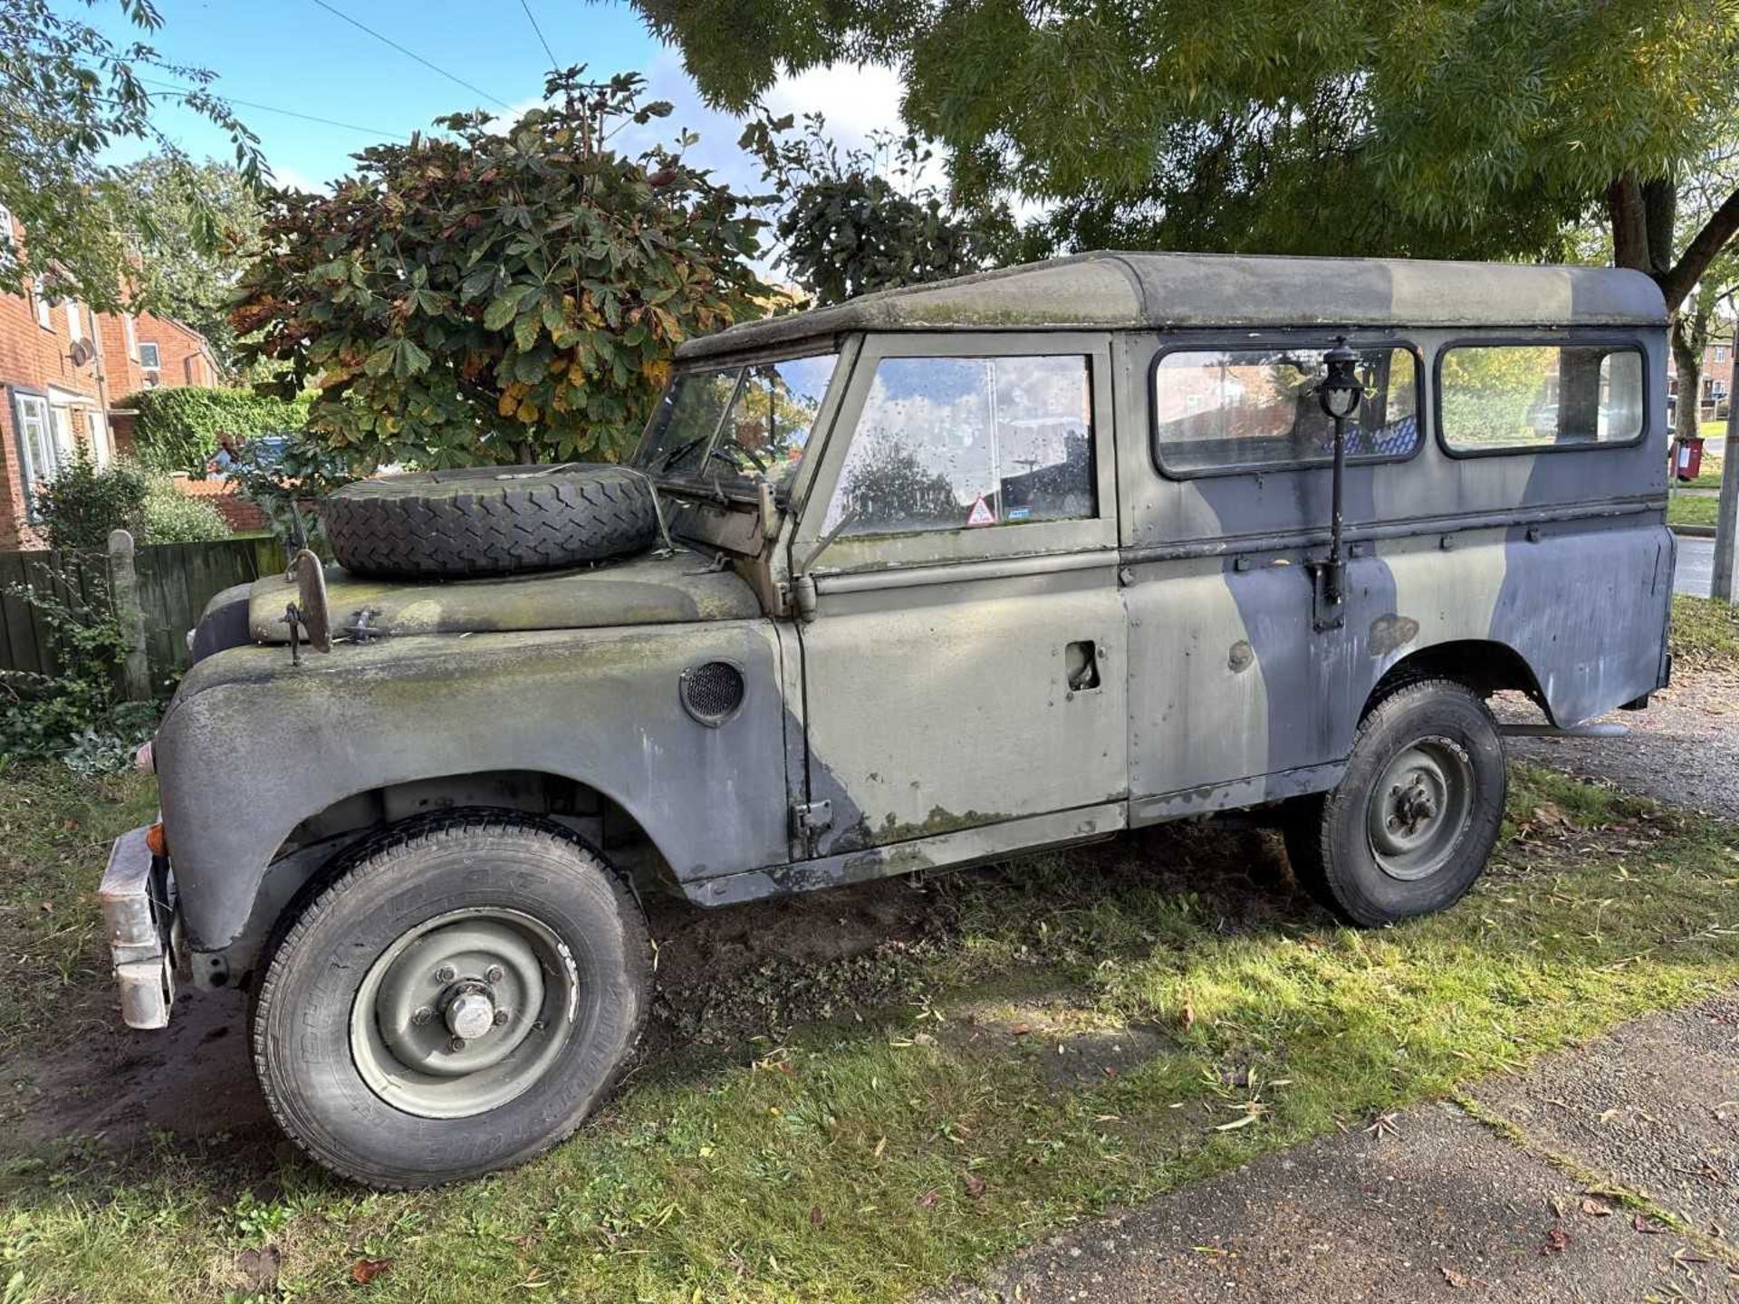
<svg viewBox="0 0 1739 1304"><path fill-rule="evenodd" d="M1624 344L1457 344L1438 362L1450 452L1529 452L1642 436L1642 353Z"/></svg>

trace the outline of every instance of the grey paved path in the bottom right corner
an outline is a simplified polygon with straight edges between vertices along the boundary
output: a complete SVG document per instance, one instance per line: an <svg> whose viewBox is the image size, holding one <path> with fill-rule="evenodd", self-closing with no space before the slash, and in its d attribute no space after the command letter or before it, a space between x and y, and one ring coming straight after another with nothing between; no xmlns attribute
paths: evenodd
<svg viewBox="0 0 1739 1304"><path fill-rule="evenodd" d="M1487 1081L1464 1104L1101 1219L941 1299L1739 1301L1736 1156L1729 995Z"/></svg>

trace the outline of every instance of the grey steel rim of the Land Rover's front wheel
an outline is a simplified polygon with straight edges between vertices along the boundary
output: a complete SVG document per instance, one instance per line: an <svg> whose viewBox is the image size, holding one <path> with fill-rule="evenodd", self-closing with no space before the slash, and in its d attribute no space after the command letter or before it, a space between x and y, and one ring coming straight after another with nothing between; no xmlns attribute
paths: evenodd
<svg viewBox="0 0 1739 1304"><path fill-rule="evenodd" d="M350 1052L395 1109L468 1118L537 1083L577 1008L579 970L553 928L516 909L457 909L405 930L369 965Z"/></svg>

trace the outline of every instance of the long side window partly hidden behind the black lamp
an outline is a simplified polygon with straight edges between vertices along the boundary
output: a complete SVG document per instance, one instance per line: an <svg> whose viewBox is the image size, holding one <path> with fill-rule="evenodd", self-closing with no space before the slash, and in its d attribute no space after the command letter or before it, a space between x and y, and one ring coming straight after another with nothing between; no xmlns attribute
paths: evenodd
<svg viewBox="0 0 1739 1304"><path fill-rule="evenodd" d="M1334 421L1313 388L1325 349L1176 349L1153 369L1153 445L1172 475L1316 466L1334 457ZM1358 349L1365 400L1346 426L1353 459L1419 449L1419 365L1398 348Z"/></svg>

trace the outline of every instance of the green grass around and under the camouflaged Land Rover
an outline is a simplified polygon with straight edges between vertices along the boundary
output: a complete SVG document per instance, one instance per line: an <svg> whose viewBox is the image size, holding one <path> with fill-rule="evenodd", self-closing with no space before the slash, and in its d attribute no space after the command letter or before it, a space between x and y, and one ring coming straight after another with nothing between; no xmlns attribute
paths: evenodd
<svg viewBox="0 0 1739 1304"><path fill-rule="evenodd" d="M1675 607L1675 640L1739 652L1709 603ZM0 977L52 998L0 1028L64 1045L78 1021L33 1010L108 1001L99 838L150 788L3 777L0 923L26 941ZM703 974L708 1017L734 1012L711 1045L666 1036L570 1142L463 1188L370 1194L271 1135L0 1142L0 1297L904 1299L1739 981L1734 831L1546 770L1513 772L1492 869L1442 916L1343 928L1280 864L1196 824L866 888L918 901L922 935ZM362 1261L388 1267L358 1287Z"/></svg>

